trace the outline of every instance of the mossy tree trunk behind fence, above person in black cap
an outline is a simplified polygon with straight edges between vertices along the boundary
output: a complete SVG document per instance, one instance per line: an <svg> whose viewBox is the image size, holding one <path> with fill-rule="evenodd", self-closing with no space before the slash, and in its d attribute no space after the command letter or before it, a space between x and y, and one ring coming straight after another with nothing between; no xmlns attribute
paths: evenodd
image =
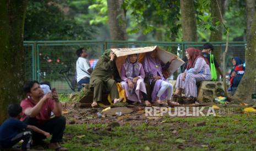
<svg viewBox="0 0 256 151"><path fill-rule="evenodd" d="M213 18L213 26L216 26L216 22L218 22L218 21L221 22L221 14L223 14L223 11L224 11L224 7L223 7L224 2L225 1L221 1L221 0L211 1L211 18ZM221 9L221 14L220 14L218 4ZM221 41L222 41L222 24L219 24L219 27L217 28L216 31L211 31L210 42L221 42ZM215 57L216 61L219 63L219 65L221 65L220 64L220 62L221 62L221 47L214 48L214 57ZM217 73L217 75L219 78L219 73Z"/></svg>

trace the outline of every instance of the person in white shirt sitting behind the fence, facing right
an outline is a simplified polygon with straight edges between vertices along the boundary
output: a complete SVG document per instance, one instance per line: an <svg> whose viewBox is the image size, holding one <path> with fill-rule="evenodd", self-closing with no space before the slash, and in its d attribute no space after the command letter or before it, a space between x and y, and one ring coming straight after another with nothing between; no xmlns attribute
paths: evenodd
<svg viewBox="0 0 256 151"><path fill-rule="evenodd" d="M79 48L76 51L76 54L78 56L77 65L76 65L77 83L78 83L78 91L80 91L82 88L82 84L89 84L92 68L91 68L90 62L88 61L88 59L86 59L88 54L86 53L86 50L84 48Z"/></svg>

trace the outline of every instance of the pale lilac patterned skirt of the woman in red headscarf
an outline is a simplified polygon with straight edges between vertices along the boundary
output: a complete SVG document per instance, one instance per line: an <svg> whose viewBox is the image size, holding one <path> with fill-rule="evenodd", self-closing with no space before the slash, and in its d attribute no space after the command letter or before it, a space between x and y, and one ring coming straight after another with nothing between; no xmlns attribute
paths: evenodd
<svg viewBox="0 0 256 151"><path fill-rule="evenodd" d="M193 96L197 97L197 82L201 81L210 81L211 80L211 74L193 74L193 73L187 73L186 79L182 80L182 74L178 75L178 78L176 80L176 89L181 88L185 90L185 96Z"/></svg>

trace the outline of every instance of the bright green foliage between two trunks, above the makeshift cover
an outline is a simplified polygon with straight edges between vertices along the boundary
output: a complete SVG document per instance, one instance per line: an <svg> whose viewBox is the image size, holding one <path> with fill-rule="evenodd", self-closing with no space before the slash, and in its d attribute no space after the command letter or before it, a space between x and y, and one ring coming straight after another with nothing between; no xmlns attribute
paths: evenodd
<svg viewBox="0 0 256 151"><path fill-rule="evenodd" d="M179 1L124 1L123 8L131 15L127 32L161 33L159 39L175 40L181 24ZM165 33L165 35L164 35Z"/></svg>

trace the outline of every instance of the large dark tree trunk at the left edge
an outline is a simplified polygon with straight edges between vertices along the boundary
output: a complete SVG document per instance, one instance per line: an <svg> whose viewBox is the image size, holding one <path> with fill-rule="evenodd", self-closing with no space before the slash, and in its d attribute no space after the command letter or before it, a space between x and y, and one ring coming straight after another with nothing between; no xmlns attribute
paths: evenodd
<svg viewBox="0 0 256 151"><path fill-rule="evenodd" d="M7 107L19 103L24 83L23 32L26 1L0 1L0 123Z"/></svg>

